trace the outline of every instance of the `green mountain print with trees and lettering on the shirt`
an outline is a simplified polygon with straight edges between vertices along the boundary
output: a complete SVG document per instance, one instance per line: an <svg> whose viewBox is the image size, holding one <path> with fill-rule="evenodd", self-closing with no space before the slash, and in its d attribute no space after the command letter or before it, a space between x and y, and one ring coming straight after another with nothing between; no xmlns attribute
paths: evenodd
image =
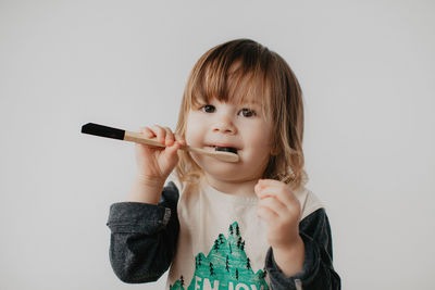
<svg viewBox="0 0 435 290"><path fill-rule="evenodd" d="M237 222L228 228L228 239L220 234L208 256L195 257L195 274L187 290L269 290L265 274L253 273L245 252L245 241ZM184 277L179 277L171 290L186 290Z"/></svg>

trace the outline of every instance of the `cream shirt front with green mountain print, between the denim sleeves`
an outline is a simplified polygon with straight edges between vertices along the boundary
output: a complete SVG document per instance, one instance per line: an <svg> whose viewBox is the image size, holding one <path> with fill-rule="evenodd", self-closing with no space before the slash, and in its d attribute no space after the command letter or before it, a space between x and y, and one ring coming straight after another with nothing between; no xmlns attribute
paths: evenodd
<svg viewBox="0 0 435 290"><path fill-rule="evenodd" d="M179 193L179 236L166 289L269 289L263 267L270 245L256 194L220 192L206 181ZM306 188L294 193L300 220L322 207Z"/></svg>

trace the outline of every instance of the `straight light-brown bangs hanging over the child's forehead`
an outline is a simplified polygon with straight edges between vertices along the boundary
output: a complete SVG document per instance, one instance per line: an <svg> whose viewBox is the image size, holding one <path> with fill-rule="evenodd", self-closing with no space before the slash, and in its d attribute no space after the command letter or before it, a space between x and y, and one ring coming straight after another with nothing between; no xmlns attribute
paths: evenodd
<svg viewBox="0 0 435 290"><path fill-rule="evenodd" d="M260 46L222 47L206 54L192 79L190 105L215 99L221 102L257 103L269 108L269 53Z"/></svg>

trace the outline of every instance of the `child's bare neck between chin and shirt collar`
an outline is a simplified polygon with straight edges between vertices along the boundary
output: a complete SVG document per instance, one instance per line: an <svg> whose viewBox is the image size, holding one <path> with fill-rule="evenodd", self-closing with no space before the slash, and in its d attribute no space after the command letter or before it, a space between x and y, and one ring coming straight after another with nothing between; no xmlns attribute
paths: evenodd
<svg viewBox="0 0 435 290"><path fill-rule="evenodd" d="M210 175L204 175L206 181L216 189L217 191L234 194L238 197L253 197L253 188L257 185L259 178L250 180L221 180L213 178Z"/></svg>

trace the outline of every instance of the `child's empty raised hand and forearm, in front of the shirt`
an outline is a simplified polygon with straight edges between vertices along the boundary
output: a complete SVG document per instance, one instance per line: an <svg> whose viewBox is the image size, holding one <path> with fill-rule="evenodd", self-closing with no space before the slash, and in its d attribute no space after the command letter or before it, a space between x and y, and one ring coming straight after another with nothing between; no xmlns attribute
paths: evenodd
<svg viewBox="0 0 435 290"><path fill-rule="evenodd" d="M273 249L275 261L284 273L297 273L301 263L288 270L284 270L283 266L288 265L287 260L299 260L303 263L303 241L299 236L299 200L288 185L273 179L260 179L254 191L260 199L257 214L268 224L268 241ZM278 260L283 262L281 265Z"/></svg>

